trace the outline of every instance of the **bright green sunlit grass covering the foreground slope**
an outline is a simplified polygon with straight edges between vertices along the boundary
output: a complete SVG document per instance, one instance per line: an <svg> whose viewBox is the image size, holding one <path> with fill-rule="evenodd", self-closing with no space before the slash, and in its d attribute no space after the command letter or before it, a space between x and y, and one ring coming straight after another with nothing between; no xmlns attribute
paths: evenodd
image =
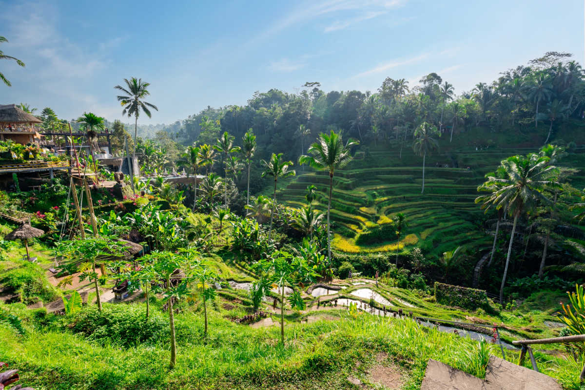
<svg viewBox="0 0 585 390"><path fill-rule="evenodd" d="M57 325L71 319L39 319L24 310L16 310L25 318L24 335L0 325L0 360L22 370L21 383L37 389L350 389L348 377L371 383L369 370L381 363L400 374L402 389L415 390L429 358L483 377L488 354L501 356L494 345L419 327L409 319L366 313L289 324L284 347L278 344L277 327L254 329L214 313L205 339L201 315L187 308L176 317L177 367L169 371L163 339L134 346L89 341ZM52 325L40 325L43 321ZM383 354L383 361L376 362L378 353L387 358ZM517 353L507 357L517 359ZM566 389L580 388L580 363L541 353L536 359L542 372Z"/></svg>

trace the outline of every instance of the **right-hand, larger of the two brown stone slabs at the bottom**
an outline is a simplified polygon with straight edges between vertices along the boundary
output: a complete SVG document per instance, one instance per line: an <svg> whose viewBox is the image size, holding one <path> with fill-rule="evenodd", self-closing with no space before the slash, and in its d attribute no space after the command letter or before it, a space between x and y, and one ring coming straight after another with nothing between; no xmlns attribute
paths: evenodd
<svg viewBox="0 0 585 390"><path fill-rule="evenodd" d="M486 381L506 385L514 390L562 390L555 379L499 357L491 356Z"/></svg>

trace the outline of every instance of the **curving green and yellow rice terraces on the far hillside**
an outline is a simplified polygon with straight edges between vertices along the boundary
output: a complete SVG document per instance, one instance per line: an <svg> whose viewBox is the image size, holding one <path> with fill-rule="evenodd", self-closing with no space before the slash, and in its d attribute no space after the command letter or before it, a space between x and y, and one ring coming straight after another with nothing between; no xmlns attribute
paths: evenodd
<svg viewBox="0 0 585 390"><path fill-rule="evenodd" d="M421 194L422 158L410 153L360 151L336 172L331 218L334 247L346 253L405 251L415 244L440 255L460 244L477 249L490 246L483 230L485 218L474 203L484 175L503 158L535 149L467 150L426 159L425 193ZM583 167L583 154L572 154L565 165ZM329 178L326 172L299 174L278 192L278 199L298 208L306 204L305 189L319 189L316 208L325 211ZM583 183L585 177L576 176ZM577 187L583 184L576 184ZM407 216L408 228L397 247L392 218Z"/></svg>

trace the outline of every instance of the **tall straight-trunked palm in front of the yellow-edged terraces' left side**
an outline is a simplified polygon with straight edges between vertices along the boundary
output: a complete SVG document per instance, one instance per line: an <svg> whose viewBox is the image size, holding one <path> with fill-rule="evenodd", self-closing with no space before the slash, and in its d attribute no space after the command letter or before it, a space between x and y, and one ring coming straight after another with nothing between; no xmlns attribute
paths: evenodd
<svg viewBox="0 0 585 390"><path fill-rule="evenodd" d="M345 167L352 160L350 151L352 146L358 145L356 140L349 139L345 146L341 134L331 130L330 134L321 133L317 141L311 144L308 153L311 156L298 158L299 164L309 164L315 169L329 171L329 203L327 205L327 253L328 263L331 266L331 195L333 193L333 175L335 170Z"/></svg>

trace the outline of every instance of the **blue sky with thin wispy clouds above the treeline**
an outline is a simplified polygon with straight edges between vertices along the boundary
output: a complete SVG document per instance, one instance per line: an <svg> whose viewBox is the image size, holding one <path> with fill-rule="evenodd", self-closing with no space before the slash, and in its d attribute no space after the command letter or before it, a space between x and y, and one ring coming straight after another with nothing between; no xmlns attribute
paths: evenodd
<svg viewBox="0 0 585 390"><path fill-rule="evenodd" d="M467 91L541 56L583 63L583 1L41 1L0 0L0 103L123 119L113 87L150 82L159 106L139 123L171 123L254 91L375 91L436 72Z"/></svg>

